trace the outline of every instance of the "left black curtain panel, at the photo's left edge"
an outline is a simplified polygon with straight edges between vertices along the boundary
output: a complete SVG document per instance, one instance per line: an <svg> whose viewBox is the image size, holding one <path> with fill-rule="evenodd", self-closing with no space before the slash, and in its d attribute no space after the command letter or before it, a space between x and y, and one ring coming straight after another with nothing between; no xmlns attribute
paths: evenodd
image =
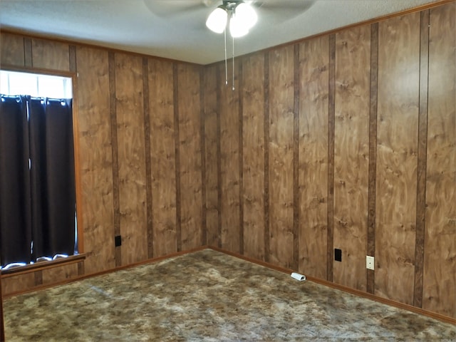
<svg viewBox="0 0 456 342"><path fill-rule="evenodd" d="M27 98L0 98L1 264L30 260L31 197Z"/></svg>

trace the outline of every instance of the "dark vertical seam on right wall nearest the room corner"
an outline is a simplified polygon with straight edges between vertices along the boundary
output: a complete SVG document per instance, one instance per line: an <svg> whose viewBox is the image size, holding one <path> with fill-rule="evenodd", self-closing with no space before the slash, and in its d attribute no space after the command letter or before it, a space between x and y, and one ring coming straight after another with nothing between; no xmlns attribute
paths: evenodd
<svg viewBox="0 0 456 342"><path fill-rule="evenodd" d="M222 110L222 89L218 68L215 78L217 82L217 237L218 247L222 248L222 123L220 121L220 112Z"/></svg>

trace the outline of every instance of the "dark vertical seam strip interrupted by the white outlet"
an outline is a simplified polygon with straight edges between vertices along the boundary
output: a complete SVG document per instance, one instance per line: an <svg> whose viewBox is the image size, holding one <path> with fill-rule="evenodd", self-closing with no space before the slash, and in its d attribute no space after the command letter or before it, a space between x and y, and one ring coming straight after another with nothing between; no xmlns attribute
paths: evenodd
<svg viewBox="0 0 456 342"><path fill-rule="evenodd" d="M367 254L375 257L375 193L377 186L378 23L371 25L371 85L369 108L369 174ZM375 272L366 269L366 291L375 291Z"/></svg>

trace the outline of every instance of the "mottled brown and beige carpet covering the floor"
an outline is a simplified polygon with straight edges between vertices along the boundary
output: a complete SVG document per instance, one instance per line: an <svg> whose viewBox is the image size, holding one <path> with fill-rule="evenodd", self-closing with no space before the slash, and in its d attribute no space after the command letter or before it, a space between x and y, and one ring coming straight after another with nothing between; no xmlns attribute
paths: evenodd
<svg viewBox="0 0 456 342"><path fill-rule="evenodd" d="M212 249L4 301L6 341L455 341L456 327Z"/></svg>

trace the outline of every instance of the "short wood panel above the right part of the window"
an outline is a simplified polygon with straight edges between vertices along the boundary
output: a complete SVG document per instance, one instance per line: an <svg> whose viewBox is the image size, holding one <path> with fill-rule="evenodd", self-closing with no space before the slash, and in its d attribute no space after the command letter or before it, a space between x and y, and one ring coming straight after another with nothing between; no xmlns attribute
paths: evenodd
<svg viewBox="0 0 456 342"><path fill-rule="evenodd" d="M33 68L70 70L68 43L33 38L31 52Z"/></svg>

